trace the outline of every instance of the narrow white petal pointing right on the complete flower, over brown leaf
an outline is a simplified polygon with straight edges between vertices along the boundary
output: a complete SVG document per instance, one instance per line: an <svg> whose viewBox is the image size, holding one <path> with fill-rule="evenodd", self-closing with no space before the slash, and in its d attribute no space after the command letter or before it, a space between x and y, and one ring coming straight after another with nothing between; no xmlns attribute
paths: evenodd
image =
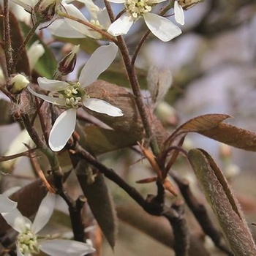
<svg viewBox="0 0 256 256"><path fill-rule="evenodd" d="M84 99L83 105L97 113L107 114L108 116L124 116L120 108L116 108L102 99Z"/></svg>

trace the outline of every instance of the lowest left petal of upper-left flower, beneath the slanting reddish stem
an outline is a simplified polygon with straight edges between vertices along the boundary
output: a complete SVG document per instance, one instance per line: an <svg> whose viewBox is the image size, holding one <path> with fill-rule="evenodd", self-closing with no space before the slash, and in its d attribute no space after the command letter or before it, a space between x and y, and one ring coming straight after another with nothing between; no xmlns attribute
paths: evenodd
<svg viewBox="0 0 256 256"><path fill-rule="evenodd" d="M48 26L50 33L56 37L64 37L64 38L84 38L86 37L80 31L73 29L72 26L69 25L66 19L58 19L54 20L53 23Z"/></svg>

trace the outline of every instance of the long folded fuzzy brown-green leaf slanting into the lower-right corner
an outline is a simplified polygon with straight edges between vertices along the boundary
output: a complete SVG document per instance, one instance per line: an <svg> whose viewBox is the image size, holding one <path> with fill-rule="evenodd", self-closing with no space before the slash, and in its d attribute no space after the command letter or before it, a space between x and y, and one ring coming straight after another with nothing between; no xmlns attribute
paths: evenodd
<svg viewBox="0 0 256 256"><path fill-rule="evenodd" d="M256 255L252 234L249 232L236 197L219 167L201 149L190 150L188 157L234 255Z"/></svg>

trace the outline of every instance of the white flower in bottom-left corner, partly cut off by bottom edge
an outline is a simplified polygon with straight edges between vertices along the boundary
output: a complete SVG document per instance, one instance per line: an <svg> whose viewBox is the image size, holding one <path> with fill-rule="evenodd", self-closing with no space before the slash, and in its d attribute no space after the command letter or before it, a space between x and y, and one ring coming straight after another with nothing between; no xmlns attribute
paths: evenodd
<svg viewBox="0 0 256 256"><path fill-rule="evenodd" d="M2 214L6 222L16 231L18 256L31 256L39 251L53 256L79 256L94 252L90 244L64 239L38 238L37 233L42 230L50 219L55 206L56 195L49 194L42 200L37 215L32 223L18 211L17 208L10 213Z"/></svg>

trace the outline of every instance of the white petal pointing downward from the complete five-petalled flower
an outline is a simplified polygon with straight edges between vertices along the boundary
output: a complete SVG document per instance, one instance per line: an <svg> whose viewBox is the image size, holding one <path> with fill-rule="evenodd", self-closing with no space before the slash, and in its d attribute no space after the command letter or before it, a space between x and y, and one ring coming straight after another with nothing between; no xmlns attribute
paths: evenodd
<svg viewBox="0 0 256 256"><path fill-rule="evenodd" d="M69 108L61 113L50 130L49 146L53 151L60 151L75 130L76 109Z"/></svg>

